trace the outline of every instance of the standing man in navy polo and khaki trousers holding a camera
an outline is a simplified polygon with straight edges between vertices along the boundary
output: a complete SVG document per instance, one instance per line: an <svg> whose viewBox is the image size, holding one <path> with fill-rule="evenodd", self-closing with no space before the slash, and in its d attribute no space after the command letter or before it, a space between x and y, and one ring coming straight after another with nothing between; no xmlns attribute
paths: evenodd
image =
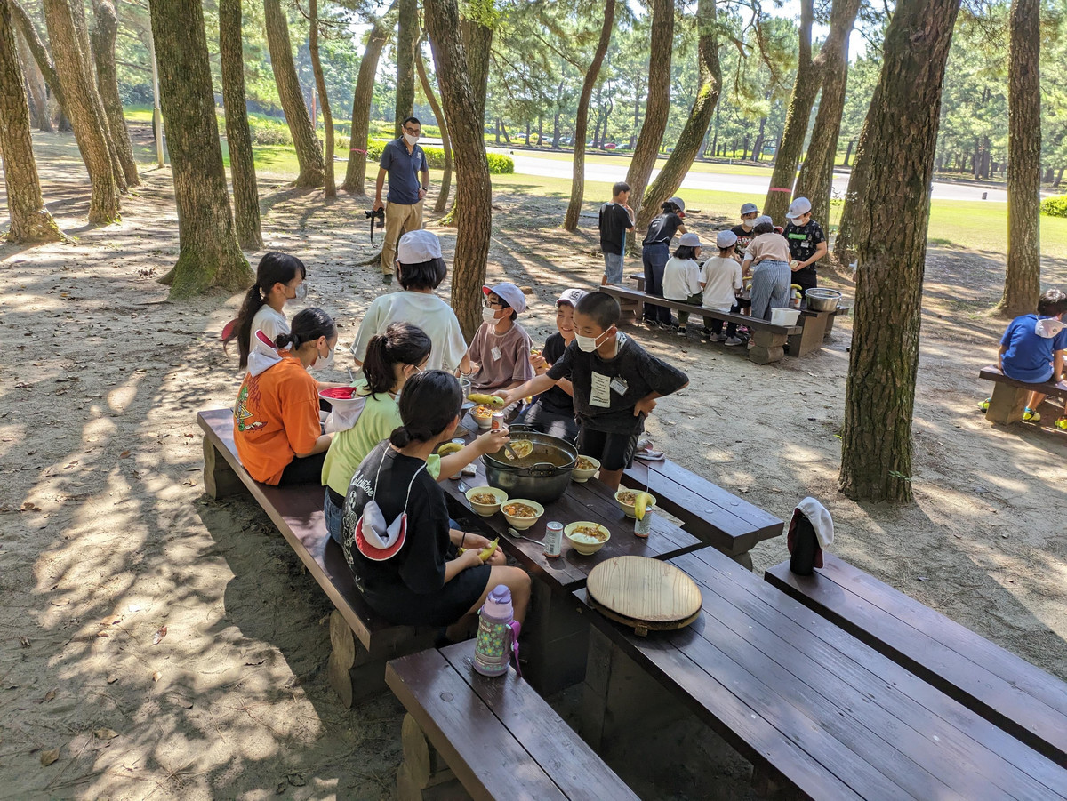
<svg viewBox="0 0 1067 801"><path fill-rule="evenodd" d="M385 203L385 242L382 244L382 283L393 283L393 262L397 242L402 234L423 227L423 198L430 188L430 163L418 146L423 126L408 117L400 126L403 134L382 150L375 185L375 211L382 208L382 185L389 176L389 194ZM421 181L419 178L421 177Z"/></svg>

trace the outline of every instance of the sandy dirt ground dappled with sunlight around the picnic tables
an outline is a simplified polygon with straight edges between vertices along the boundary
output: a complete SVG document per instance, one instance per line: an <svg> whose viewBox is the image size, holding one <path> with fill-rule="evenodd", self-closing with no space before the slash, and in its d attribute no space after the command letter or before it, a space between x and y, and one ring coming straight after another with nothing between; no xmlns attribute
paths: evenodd
<svg viewBox="0 0 1067 801"><path fill-rule="evenodd" d="M337 703L323 594L258 507L203 495L195 412L228 405L240 383L218 338L240 298L175 305L155 281L178 246L169 171L144 167L122 223L92 228L65 153L39 167L77 242L0 245L0 795L392 798L401 707ZM336 316L347 346L382 291L357 266L372 252L366 202L260 190L267 249L305 260L307 303ZM494 203L490 277L532 288L524 324L543 341L559 289L600 277L594 220L571 236L560 201ZM688 222L711 234L722 221ZM455 231L440 233L448 257ZM1067 434L992 428L975 406L1002 276L1000 254L930 253L905 508L837 492L848 320L821 354L766 367L630 333L690 377L649 423L672 459L782 518L822 499L835 552L1067 678ZM1046 259L1044 283L1067 283L1067 254ZM782 538L753 551L758 571L785 557ZM747 795L743 771L723 772L724 796ZM632 779L648 798L705 797L689 774Z"/></svg>

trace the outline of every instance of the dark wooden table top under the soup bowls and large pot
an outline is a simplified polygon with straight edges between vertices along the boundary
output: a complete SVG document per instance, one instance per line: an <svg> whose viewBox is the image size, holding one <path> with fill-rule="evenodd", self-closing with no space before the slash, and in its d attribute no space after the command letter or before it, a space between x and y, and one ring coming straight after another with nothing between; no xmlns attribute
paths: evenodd
<svg viewBox="0 0 1067 801"><path fill-rule="evenodd" d="M473 427L469 420L467 422ZM485 486L488 483L485 466L481 459L475 460L474 465L478 469L478 475L464 476L463 484L467 487ZM452 501L469 510L469 516L478 522L482 533L490 539L500 538L505 552L517 559L526 570L567 592L584 587L589 572L605 559L621 556L670 559L704 547L704 543L668 522L663 515L653 517L652 531L648 539L635 536L634 520L626 517L616 504L615 493L596 479L590 479L585 484L572 481L559 500L542 504L544 514L531 528L519 532L537 542L517 540L508 533L508 520L500 512L492 517L481 517L476 514L471 509L464 491L460 490L460 483L447 479L441 482L441 486ZM562 555L558 559L548 559L544 555L541 541L544 539L545 524L550 520L558 520L564 526L576 520L592 520L605 526L611 532L611 538L595 554L583 556L564 536Z"/></svg>

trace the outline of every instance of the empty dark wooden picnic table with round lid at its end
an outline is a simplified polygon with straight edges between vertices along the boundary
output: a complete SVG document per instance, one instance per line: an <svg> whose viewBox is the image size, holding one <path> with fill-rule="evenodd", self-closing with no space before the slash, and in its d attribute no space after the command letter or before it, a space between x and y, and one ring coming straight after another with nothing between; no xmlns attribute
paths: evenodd
<svg viewBox="0 0 1067 801"><path fill-rule="evenodd" d="M1067 770L718 550L670 561L703 594L688 628L638 637L590 610L583 736L593 748L610 750L632 731L654 737L656 719L671 719L669 693L749 759L770 792L892 801L1067 794ZM576 594L585 602L585 593Z"/></svg>

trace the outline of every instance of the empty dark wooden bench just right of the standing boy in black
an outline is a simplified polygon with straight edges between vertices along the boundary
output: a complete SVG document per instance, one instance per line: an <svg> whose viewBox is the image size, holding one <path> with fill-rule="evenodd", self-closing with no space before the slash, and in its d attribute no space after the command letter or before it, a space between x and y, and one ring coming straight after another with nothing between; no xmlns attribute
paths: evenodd
<svg viewBox="0 0 1067 801"><path fill-rule="evenodd" d="M634 490L648 488L656 504L682 520L682 529L751 570L748 551L782 533L783 520L669 459L634 461L622 476Z"/></svg>

